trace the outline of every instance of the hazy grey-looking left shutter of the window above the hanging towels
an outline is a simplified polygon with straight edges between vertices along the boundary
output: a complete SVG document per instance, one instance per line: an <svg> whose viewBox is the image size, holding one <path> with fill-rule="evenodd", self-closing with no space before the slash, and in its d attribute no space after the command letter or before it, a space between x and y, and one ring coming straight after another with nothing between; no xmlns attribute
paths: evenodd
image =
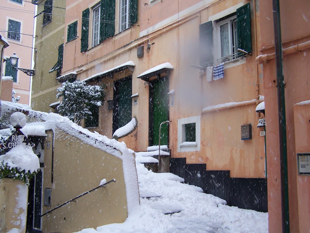
<svg viewBox="0 0 310 233"><path fill-rule="evenodd" d="M199 25L200 37L200 65L208 66L213 64L213 27L212 21Z"/></svg>

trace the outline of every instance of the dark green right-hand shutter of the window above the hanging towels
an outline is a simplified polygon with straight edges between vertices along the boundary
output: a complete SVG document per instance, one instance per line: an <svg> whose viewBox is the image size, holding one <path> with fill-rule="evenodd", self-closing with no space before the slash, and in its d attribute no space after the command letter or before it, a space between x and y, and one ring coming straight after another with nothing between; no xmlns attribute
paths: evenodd
<svg viewBox="0 0 310 233"><path fill-rule="evenodd" d="M238 48L251 53L251 14L250 3L237 9Z"/></svg>

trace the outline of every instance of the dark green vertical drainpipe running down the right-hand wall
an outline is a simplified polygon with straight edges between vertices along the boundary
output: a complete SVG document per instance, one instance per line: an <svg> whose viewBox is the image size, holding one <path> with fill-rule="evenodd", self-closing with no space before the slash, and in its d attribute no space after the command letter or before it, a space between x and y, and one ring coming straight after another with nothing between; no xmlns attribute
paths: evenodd
<svg viewBox="0 0 310 233"><path fill-rule="evenodd" d="M280 167L281 167L282 232L290 232L289 192L288 192L288 172L287 172L286 113L285 113L285 95L284 95L285 82L284 82L284 77L283 77L279 0L272 0L272 9L273 9L273 30L274 30L274 39L275 39L275 54L276 54L276 68L277 68L277 94L278 94Z"/></svg>

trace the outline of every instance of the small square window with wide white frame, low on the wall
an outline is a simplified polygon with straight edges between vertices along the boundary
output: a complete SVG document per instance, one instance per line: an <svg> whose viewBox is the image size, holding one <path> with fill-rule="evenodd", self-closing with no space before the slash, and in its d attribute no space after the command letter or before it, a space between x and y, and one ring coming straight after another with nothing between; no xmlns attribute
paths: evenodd
<svg viewBox="0 0 310 233"><path fill-rule="evenodd" d="M178 119L178 151L200 150L200 116Z"/></svg>

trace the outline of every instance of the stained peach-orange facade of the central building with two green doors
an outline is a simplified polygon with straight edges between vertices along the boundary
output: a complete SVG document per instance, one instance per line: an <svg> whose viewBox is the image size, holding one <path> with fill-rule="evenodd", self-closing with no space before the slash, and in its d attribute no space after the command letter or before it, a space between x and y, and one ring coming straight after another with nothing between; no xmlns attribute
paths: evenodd
<svg viewBox="0 0 310 233"><path fill-rule="evenodd" d="M145 151L148 147L149 83L137 79L137 76L154 66L170 62L174 69L168 78L169 90L175 90L174 106L169 107L171 157L185 157L188 163L206 163L210 170L230 170L232 177L265 178L264 137L259 135L262 128L256 127L263 115L255 112L259 95L264 94L261 66L255 63L257 48L261 47L256 33L260 21L255 1L250 1L253 55L225 64L225 78L210 83L199 69L191 66L199 64L199 25L211 20L215 14L225 16L228 8L237 9L248 1L153 1L147 5L138 1L137 25L120 33L116 25L115 35L93 48L90 30L89 49L81 53L80 15L97 2L66 2L66 14L76 18L65 19L62 74L77 71L77 78L83 80L128 61L135 63L133 71L122 71L114 74L113 79L105 77L99 80L99 83L107 85L105 100L110 100L113 99L113 82L132 75L132 94L139 93L138 104L132 105L132 117L137 118L138 128L133 135L124 138L127 146L135 151ZM116 10L116 21L117 17ZM66 43L67 27L76 19L78 38ZM160 27L164 30L156 30ZM151 48L147 52L148 43ZM143 58L137 58L140 45L144 45ZM253 103L202 113L204 107L243 101ZM112 112L107 110L105 102L100 108L99 127L90 130L111 138ZM178 152L178 119L193 116L201 119L200 150ZM241 140L241 126L246 124L252 125L252 139L244 141Z"/></svg>

